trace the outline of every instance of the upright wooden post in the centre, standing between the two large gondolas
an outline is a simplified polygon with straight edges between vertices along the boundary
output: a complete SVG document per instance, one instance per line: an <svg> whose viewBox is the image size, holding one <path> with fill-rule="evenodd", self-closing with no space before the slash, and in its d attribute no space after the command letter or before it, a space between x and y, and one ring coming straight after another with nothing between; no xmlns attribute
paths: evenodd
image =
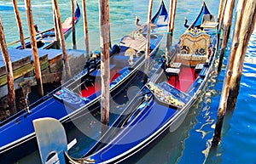
<svg viewBox="0 0 256 164"><path fill-rule="evenodd" d="M109 24L109 2L108 0L99 0L100 11L100 34L101 34L101 77L102 77L102 100L101 100L101 120L102 135L108 130L109 124L109 42L110 42L110 24Z"/></svg>

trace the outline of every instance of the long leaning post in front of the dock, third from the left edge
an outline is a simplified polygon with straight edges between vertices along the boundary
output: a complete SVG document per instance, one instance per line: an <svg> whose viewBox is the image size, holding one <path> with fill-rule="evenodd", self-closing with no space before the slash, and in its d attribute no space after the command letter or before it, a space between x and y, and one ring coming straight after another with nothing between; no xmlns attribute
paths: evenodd
<svg viewBox="0 0 256 164"><path fill-rule="evenodd" d="M25 5L26 5L26 20L27 20L27 25L28 25L29 32L30 32L32 54L34 56L34 66L35 66L35 72L36 72L36 80L37 80L37 84L38 84L38 94L40 96L44 96L43 82L42 82L41 69L40 69L40 61L39 61L39 57L38 57L37 38L36 38L36 32L35 32L35 28L34 28L33 19L32 19L31 1L25 0Z"/></svg>

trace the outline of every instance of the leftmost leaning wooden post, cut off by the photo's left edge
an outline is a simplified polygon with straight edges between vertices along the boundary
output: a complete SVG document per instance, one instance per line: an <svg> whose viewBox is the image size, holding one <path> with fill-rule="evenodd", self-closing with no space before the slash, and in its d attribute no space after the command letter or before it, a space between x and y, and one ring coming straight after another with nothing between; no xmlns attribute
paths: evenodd
<svg viewBox="0 0 256 164"><path fill-rule="evenodd" d="M7 87L8 87L8 105L10 114L13 115L16 113L15 105L15 79L13 74L13 66L11 59L9 57L9 52L6 46L2 18L0 17L0 47L3 55L3 60L5 63L5 70L7 75Z"/></svg>

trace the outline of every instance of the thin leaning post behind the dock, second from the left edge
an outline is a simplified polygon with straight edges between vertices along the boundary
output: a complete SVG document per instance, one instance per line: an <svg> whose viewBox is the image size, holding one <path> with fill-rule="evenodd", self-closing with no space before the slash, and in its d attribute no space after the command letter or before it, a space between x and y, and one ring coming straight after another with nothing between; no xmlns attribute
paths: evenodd
<svg viewBox="0 0 256 164"><path fill-rule="evenodd" d="M16 16L16 20L17 20L17 25L20 31L20 43L21 43L21 47L22 49L26 48L26 43L25 43L25 39L24 39L24 32L22 29L22 23L21 23L21 19L20 19L20 12L19 12L19 8L17 5L17 0L13 0L13 4L14 4L14 10L15 10L15 16Z"/></svg>

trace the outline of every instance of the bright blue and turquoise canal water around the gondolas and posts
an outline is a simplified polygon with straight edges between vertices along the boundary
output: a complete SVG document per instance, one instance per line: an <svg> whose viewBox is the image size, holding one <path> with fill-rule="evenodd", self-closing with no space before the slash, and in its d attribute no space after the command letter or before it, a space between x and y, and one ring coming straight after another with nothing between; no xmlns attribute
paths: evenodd
<svg viewBox="0 0 256 164"><path fill-rule="evenodd" d="M166 2L166 1L165 1ZM26 36L28 27L26 25L26 11L24 1L18 0L20 14ZM70 3L67 0L59 0L62 21L71 15ZM79 1L81 6L81 1ZM192 22L201 8L202 0L185 0L177 2L177 14L175 20L175 33L173 42L178 42L178 37L183 34L183 20L186 17ZM217 0L206 0L207 6L212 14L218 14ZM90 32L90 49L99 48L99 21L98 1L87 0L88 22ZM0 0L0 16L7 42L19 39L15 15L12 10L11 1ZM154 13L160 5L160 1L154 1ZM169 2L166 2L168 7ZM39 31L53 27L51 1L33 1L32 14L34 23L38 25ZM141 22L147 20L148 0L110 0L111 12L111 37L114 42L136 28L135 16L139 16ZM216 16L217 17L217 16ZM234 17L235 18L235 17ZM84 33L82 20L77 25L78 48L84 49ZM72 48L72 37L67 38L67 48ZM161 49L165 48L162 42ZM230 44L224 58L223 69L219 76L212 72L207 88L201 98L186 117L183 124L173 133L167 133L159 143L143 153L131 159L131 163L138 164L255 164L256 163L256 30L254 30L247 48L247 56L241 77L240 94L237 99L236 110L226 116L223 129L223 139L216 152L210 151L211 139L214 133L214 125L217 118L217 110L220 93L224 82L224 69L230 53ZM218 62L216 63L218 65ZM118 106L121 108L121 106ZM73 131L69 136L79 133ZM14 134L15 135L15 134ZM78 137L79 138L79 137ZM79 142L82 144L83 142ZM81 145L78 145L79 148ZM17 163L40 163L38 152L26 156Z"/></svg>

